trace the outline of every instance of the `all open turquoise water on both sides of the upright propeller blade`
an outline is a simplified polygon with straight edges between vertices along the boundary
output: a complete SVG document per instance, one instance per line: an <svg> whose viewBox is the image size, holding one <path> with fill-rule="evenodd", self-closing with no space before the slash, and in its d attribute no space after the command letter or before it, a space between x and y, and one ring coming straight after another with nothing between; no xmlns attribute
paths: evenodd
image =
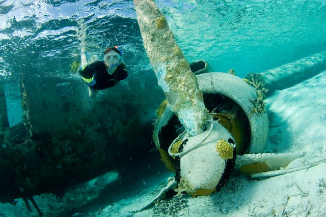
<svg viewBox="0 0 326 217"><path fill-rule="evenodd" d="M204 59L214 72L244 77L326 50L326 1L155 2L186 59ZM119 45L131 79L155 78L132 1L0 2L0 79L12 126L22 116L20 75L77 79L69 66L81 44L99 58Z"/></svg>

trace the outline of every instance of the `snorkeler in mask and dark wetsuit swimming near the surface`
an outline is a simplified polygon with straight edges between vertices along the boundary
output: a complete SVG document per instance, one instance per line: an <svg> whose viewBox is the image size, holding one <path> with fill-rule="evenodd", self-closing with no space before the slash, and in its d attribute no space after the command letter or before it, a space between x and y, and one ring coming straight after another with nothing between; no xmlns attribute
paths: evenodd
<svg viewBox="0 0 326 217"><path fill-rule="evenodd" d="M129 89L126 65L122 63L122 51L118 46L109 47L104 51L104 61L95 61L88 65L85 49L82 48L82 64L79 68L80 77L89 86L89 96L96 97L97 92L115 86L121 81L122 86ZM124 88L126 89L126 88Z"/></svg>

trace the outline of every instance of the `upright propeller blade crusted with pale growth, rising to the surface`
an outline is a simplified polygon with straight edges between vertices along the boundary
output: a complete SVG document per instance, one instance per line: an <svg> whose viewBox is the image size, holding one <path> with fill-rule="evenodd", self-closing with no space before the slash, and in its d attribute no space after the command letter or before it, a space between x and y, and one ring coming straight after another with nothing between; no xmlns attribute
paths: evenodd
<svg viewBox="0 0 326 217"><path fill-rule="evenodd" d="M134 0L144 47L158 84L190 136L202 133L207 120L196 76L177 45L164 15L152 0Z"/></svg>

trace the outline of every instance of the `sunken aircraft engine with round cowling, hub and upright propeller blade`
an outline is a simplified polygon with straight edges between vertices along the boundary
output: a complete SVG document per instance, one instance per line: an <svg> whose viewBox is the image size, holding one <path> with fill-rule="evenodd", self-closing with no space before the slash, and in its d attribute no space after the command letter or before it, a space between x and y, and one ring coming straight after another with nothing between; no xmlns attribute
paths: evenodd
<svg viewBox="0 0 326 217"><path fill-rule="evenodd" d="M196 77L155 3L134 0L134 5L144 47L167 97L157 112L155 144L176 173L178 195L210 194L228 180L237 152L264 149L264 104L258 105L253 87L233 75Z"/></svg>

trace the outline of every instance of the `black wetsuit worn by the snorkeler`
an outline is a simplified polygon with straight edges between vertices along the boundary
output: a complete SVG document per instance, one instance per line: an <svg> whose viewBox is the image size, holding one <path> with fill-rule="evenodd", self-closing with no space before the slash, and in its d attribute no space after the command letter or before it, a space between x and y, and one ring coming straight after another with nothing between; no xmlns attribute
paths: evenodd
<svg viewBox="0 0 326 217"><path fill-rule="evenodd" d="M128 72L118 66L112 75L108 74L104 61L95 61L80 69L80 76L92 90L106 89L113 87L119 81L128 77Z"/></svg>

